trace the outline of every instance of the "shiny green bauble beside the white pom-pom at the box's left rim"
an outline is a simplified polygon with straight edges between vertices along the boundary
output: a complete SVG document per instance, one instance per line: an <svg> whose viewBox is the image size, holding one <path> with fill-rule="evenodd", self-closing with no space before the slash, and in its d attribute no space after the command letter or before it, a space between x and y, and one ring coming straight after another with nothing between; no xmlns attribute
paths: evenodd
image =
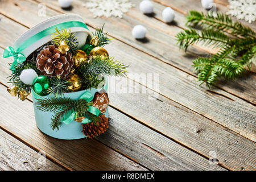
<svg viewBox="0 0 256 182"><path fill-rule="evenodd" d="M47 96L49 93L48 88L51 86L51 82L47 76L40 75L35 78L33 82L33 89L39 96Z"/></svg>

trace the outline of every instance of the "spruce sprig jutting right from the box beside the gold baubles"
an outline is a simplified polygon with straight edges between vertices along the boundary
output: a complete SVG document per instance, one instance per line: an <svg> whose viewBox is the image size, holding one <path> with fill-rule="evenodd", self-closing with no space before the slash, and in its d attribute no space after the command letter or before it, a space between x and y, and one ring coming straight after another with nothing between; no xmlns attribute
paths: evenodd
<svg viewBox="0 0 256 182"><path fill-rule="evenodd" d="M101 56L92 57L89 60L89 64L82 64L80 67L80 72L87 75L97 76L100 74L103 75L114 75L114 76L125 76L127 71L126 69L129 66L115 61L113 57L104 57Z"/></svg>

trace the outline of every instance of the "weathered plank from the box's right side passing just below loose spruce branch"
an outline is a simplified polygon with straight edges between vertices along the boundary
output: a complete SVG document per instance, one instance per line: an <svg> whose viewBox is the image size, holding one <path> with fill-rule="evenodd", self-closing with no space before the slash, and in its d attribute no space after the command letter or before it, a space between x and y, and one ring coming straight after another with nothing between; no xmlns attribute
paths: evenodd
<svg viewBox="0 0 256 182"><path fill-rule="evenodd" d="M207 91L205 85L198 86L195 77L170 67L151 56L134 51L134 48L121 44L117 40L114 40L111 46L107 46L107 48L110 55L115 55L117 59L130 65L131 73L148 73L151 70L158 73L160 75L159 92L164 96L251 140L256 140L254 132L255 107L253 105L222 90L214 90L214 93L217 94L213 95L212 92ZM152 86L149 88L154 89ZM222 100L221 96L232 98L232 100Z"/></svg>

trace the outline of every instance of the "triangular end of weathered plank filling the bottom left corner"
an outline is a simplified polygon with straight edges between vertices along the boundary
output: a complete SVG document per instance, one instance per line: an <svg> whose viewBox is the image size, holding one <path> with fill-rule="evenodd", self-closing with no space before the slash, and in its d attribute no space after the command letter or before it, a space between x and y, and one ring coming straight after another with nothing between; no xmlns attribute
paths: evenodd
<svg viewBox="0 0 256 182"><path fill-rule="evenodd" d="M2 119L1 119L2 120ZM0 129L0 171L62 171L64 168L51 162L11 135Z"/></svg>

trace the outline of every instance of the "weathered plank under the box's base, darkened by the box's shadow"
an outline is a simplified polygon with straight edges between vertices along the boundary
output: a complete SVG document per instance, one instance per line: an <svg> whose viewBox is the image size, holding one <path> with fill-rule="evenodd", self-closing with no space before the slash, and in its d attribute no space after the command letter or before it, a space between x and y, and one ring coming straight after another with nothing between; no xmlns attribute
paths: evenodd
<svg viewBox="0 0 256 182"><path fill-rule="evenodd" d="M0 126L26 140L31 146L40 148L46 155L52 156L60 163L76 170L145 169L97 140L59 140L48 137L35 125L32 103L11 98L6 94L3 85L0 85L0 89L2 103Z"/></svg>

